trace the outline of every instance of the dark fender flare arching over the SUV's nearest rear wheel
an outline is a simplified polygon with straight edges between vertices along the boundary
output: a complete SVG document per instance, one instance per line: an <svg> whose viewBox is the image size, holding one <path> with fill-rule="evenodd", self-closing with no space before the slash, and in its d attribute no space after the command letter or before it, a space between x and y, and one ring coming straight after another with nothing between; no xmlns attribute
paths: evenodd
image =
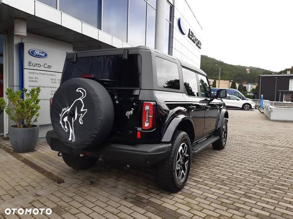
<svg viewBox="0 0 293 219"><path fill-rule="evenodd" d="M172 121L169 123L168 127L166 128L166 130L164 132L162 142L170 142L172 140L172 137L173 137L175 130L183 122L190 123L191 126L189 126L189 127L192 128L191 132L193 133L193 138L194 138L194 128L193 128L193 123L192 123L191 119L187 115L180 114L180 115L177 115L175 118L173 118Z"/></svg>

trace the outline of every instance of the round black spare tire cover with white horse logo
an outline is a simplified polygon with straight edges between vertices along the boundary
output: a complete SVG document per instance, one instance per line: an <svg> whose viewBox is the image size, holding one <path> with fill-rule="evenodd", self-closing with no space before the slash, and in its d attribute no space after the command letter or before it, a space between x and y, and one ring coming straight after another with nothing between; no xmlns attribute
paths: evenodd
<svg viewBox="0 0 293 219"><path fill-rule="evenodd" d="M98 146L110 133L113 121L112 99L105 87L94 80L69 79L54 94L51 122L66 146Z"/></svg>

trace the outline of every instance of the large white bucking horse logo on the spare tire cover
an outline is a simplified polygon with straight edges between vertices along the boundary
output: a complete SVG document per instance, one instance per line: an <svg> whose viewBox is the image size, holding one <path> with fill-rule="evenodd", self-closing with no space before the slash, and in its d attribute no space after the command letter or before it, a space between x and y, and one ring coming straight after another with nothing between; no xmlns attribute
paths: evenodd
<svg viewBox="0 0 293 219"><path fill-rule="evenodd" d="M76 92L81 92L82 96L80 98L77 98L70 107L66 107L62 109L62 112L60 115L60 125L62 128L67 132L67 124L69 126L69 139L68 141L75 141L75 134L74 134L74 121L79 118L79 123L83 124L83 117L85 113L87 112L86 109L84 109L84 97L86 96L86 92L83 88L76 89Z"/></svg>

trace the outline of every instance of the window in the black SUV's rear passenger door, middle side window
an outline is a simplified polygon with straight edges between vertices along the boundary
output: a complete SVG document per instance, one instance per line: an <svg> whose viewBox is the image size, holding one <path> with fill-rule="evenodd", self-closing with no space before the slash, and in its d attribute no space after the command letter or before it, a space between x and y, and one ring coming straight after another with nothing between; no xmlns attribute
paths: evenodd
<svg viewBox="0 0 293 219"><path fill-rule="evenodd" d="M198 96L196 73L182 68L184 87L188 96Z"/></svg>

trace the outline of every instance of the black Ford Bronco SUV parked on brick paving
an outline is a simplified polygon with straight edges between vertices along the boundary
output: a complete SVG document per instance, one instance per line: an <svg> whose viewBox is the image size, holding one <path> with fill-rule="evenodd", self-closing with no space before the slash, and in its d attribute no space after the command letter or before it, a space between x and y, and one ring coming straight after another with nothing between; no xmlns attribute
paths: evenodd
<svg viewBox="0 0 293 219"><path fill-rule="evenodd" d="M46 140L75 169L99 158L155 165L158 184L176 192L192 154L226 145L226 90L211 96L206 73L172 56L143 46L70 53L61 81Z"/></svg>

